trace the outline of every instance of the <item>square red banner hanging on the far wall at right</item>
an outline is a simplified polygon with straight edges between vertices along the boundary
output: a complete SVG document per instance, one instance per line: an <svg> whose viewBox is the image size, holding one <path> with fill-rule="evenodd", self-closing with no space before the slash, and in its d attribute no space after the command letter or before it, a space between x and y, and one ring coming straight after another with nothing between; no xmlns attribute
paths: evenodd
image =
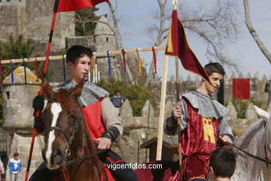
<svg viewBox="0 0 271 181"><path fill-rule="evenodd" d="M250 79L232 79L233 98L241 100L250 99Z"/></svg>

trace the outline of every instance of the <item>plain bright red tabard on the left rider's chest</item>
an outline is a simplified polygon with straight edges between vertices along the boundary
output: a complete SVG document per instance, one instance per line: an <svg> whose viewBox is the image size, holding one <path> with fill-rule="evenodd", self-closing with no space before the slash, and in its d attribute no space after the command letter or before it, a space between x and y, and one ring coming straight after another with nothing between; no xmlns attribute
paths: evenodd
<svg viewBox="0 0 271 181"><path fill-rule="evenodd" d="M81 108L92 139L101 137L101 134L106 131L103 123L101 123L101 100L88 107Z"/></svg>

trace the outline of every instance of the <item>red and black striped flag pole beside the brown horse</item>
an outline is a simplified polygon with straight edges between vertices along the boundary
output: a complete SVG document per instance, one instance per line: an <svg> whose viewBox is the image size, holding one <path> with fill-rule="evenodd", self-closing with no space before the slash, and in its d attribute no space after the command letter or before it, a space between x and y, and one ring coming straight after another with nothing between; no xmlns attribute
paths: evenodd
<svg viewBox="0 0 271 181"><path fill-rule="evenodd" d="M44 68L43 68L42 84L43 84L44 78L46 77L46 74L47 74L47 67L48 67L49 56L50 56L50 51L51 51L51 40L53 39L57 9L58 9L58 0L56 0L54 3L54 13L53 13L52 21L51 21L51 31L50 31L50 36L49 36L49 41L48 41L48 46L47 46L47 54L46 54L46 58L45 58ZM43 95L42 86L40 86L40 95ZM42 111L42 110L38 110L37 113L35 114L35 121L38 121L38 118L40 116L40 111ZM28 155L28 162L27 162L27 167L26 167L26 176L24 178L24 181L28 180L36 133L37 133L37 129L34 127L32 139L31 139L31 146L30 146L29 155Z"/></svg>

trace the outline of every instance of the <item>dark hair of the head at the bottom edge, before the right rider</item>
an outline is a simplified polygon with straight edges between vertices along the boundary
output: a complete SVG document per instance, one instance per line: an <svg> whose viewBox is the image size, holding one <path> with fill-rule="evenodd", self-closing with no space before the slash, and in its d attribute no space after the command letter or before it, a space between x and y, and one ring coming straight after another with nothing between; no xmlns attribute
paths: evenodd
<svg viewBox="0 0 271 181"><path fill-rule="evenodd" d="M211 153L209 166L215 177L231 178L236 169L236 155L229 149L217 149Z"/></svg>

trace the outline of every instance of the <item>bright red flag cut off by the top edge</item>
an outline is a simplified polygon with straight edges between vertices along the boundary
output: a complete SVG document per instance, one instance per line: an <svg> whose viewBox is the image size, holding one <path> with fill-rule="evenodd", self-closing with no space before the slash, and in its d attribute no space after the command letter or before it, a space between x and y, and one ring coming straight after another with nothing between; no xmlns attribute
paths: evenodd
<svg viewBox="0 0 271 181"><path fill-rule="evenodd" d="M108 0L56 0L54 12L67 12L81 10L84 8L92 8L98 3L108 2Z"/></svg>

